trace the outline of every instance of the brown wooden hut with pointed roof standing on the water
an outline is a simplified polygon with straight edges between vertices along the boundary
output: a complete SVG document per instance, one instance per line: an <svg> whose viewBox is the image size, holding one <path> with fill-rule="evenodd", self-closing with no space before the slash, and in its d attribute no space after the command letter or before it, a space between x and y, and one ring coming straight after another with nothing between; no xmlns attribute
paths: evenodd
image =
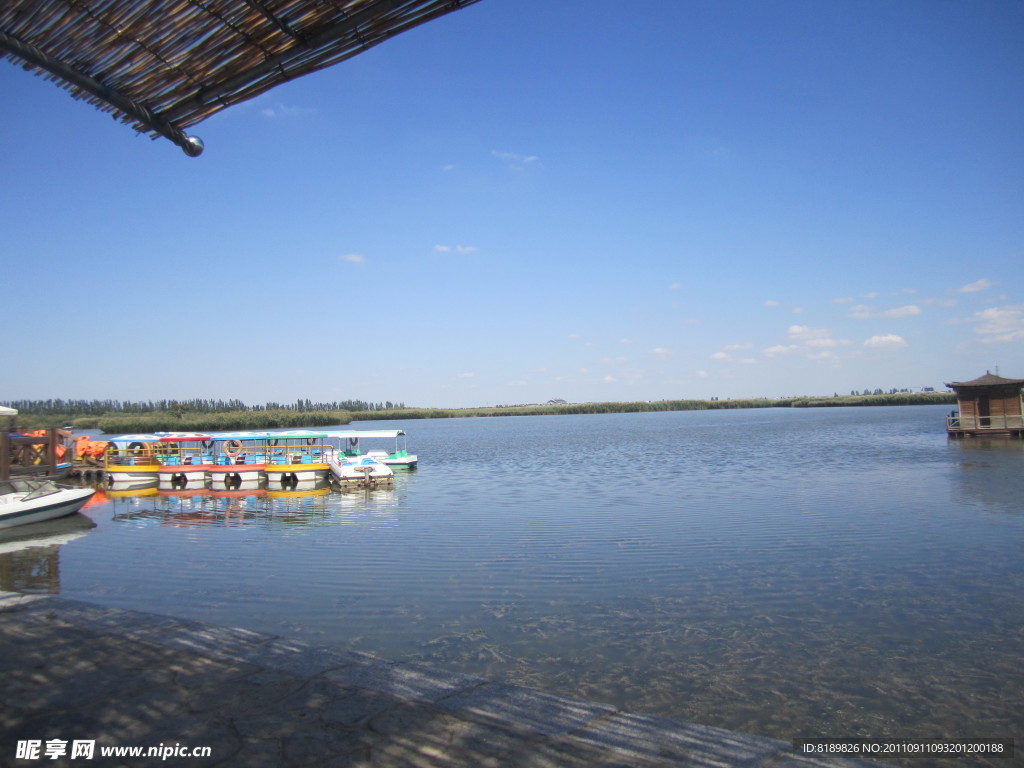
<svg viewBox="0 0 1024 768"><path fill-rule="evenodd" d="M1024 437L1024 379L1004 379L986 372L946 386L956 393L957 411L946 418L951 436Z"/></svg>

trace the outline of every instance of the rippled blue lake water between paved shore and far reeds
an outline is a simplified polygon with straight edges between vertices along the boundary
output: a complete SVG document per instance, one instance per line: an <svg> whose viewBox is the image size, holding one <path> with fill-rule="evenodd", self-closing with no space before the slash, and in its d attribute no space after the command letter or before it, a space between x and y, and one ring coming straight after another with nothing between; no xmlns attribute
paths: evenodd
<svg viewBox="0 0 1024 768"><path fill-rule="evenodd" d="M781 739L1019 737L1024 441L947 411L378 422L391 490L110 498L0 587Z"/></svg>

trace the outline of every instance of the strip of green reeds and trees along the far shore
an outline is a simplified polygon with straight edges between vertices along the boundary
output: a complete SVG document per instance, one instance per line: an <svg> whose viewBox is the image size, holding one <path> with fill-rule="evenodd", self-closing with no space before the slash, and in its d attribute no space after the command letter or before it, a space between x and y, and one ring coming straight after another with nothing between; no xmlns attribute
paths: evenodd
<svg viewBox="0 0 1024 768"><path fill-rule="evenodd" d="M416 409L397 402L343 400L292 404L268 402L246 406L241 400L14 400L23 429L70 424L76 429L99 429L106 434L261 430L288 427L326 427L351 421L379 419L455 419L493 416L555 416L562 414L628 414L656 411L713 411L750 408L843 408L851 406L934 406L955 402L950 392L891 392L831 397L778 397L710 400L637 400L633 402L566 402L494 408Z"/></svg>

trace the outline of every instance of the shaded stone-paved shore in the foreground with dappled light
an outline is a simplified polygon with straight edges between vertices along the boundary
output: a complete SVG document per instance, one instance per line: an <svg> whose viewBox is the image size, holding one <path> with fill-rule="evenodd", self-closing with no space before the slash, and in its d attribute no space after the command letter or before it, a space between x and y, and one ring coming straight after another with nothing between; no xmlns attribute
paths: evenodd
<svg viewBox="0 0 1024 768"><path fill-rule="evenodd" d="M797 756L785 741L420 665L52 596L0 592L0 672L2 765L874 765ZM91 759L82 752L88 742ZM100 754L131 746L158 752ZM196 748L209 750L191 756Z"/></svg>

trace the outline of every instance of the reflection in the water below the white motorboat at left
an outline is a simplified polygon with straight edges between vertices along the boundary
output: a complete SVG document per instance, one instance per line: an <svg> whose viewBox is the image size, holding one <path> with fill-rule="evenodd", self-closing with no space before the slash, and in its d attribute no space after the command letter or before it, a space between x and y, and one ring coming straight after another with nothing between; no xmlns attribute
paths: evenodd
<svg viewBox="0 0 1024 768"><path fill-rule="evenodd" d="M96 523L76 512L0 531L0 590L55 595L60 592L60 547Z"/></svg>

